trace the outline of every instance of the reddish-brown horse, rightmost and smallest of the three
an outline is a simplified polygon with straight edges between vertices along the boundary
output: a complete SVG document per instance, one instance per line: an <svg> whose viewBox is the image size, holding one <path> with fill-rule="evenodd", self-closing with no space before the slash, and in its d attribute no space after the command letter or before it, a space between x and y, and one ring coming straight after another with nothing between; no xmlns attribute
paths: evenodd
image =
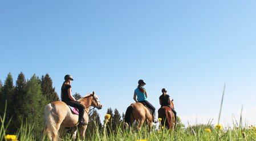
<svg viewBox="0 0 256 141"><path fill-rule="evenodd" d="M170 101L170 107L174 109L173 100ZM172 109L169 106L162 106L159 110L159 118L162 118L161 125L165 125L168 129L173 129L175 126L175 117Z"/></svg>

